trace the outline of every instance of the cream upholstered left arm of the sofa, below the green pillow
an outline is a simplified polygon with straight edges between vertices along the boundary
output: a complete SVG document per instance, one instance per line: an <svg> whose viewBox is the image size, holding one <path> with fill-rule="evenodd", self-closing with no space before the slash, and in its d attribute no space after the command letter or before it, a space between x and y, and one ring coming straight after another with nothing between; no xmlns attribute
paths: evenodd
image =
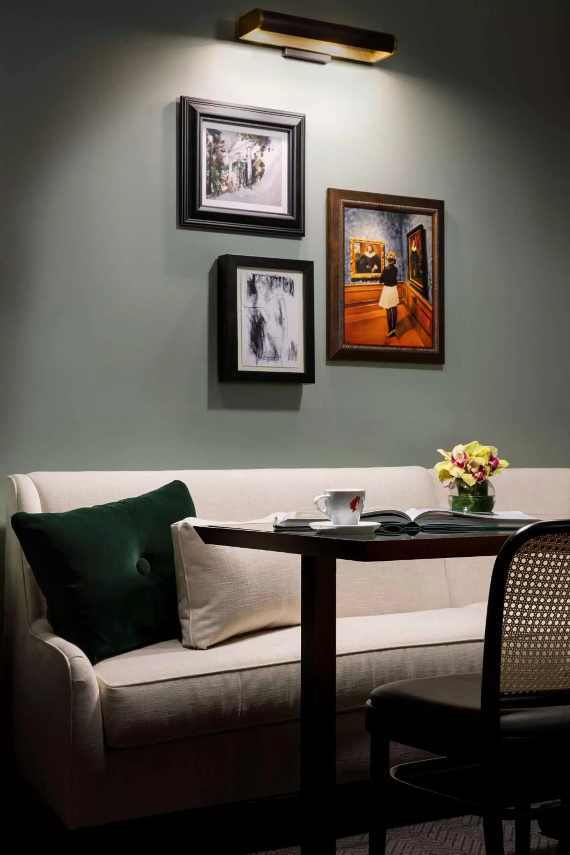
<svg viewBox="0 0 570 855"><path fill-rule="evenodd" d="M79 647L44 619L15 646L14 731L18 765L68 828L103 809L103 720L97 678Z"/></svg>

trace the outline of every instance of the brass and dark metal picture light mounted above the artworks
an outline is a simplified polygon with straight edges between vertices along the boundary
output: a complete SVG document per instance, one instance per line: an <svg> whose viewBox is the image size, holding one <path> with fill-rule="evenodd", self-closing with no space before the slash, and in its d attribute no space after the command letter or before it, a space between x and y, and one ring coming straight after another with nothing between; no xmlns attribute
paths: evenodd
<svg viewBox="0 0 570 855"><path fill-rule="evenodd" d="M252 9L238 21L243 42L282 48L290 59L330 62L379 62L397 49L397 38L388 32L373 32L360 27L344 27L326 21L312 21L297 15L280 15L265 9Z"/></svg>

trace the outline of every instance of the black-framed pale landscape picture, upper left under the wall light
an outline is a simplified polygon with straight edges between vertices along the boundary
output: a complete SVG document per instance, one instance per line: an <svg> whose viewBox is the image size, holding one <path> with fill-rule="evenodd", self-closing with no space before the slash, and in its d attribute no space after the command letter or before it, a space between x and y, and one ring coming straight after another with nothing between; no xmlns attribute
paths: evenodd
<svg viewBox="0 0 570 855"><path fill-rule="evenodd" d="M180 98L181 227L303 237L305 117Z"/></svg>

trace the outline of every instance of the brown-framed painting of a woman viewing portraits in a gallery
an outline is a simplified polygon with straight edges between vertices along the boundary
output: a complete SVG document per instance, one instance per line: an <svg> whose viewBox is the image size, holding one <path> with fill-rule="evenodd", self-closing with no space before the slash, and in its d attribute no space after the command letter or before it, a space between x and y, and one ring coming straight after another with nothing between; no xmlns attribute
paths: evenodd
<svg viewBox="0 0 570 855"><path fill-rule="evenodd" d="M444 203L328 190L330 360L444 363Z"/></svg>

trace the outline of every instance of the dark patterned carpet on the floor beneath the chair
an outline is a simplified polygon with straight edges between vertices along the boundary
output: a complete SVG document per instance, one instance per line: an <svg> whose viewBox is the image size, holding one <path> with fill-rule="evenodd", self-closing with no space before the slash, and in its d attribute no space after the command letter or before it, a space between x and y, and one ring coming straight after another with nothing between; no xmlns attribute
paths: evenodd
<svg viewBox="0 0 570 855"><path fill-rule="evenodd" d="M514 823L504 823L505 855L514 855ZM457 817L438 823L392 828L387 855L485 855L483 825L479 817ZM532 823L532 855L558 852L555 840L544 837ZM298 855L298 848L275 849L262 855ZM337 855L368 855L368 835L337 840Z"/></svg>

